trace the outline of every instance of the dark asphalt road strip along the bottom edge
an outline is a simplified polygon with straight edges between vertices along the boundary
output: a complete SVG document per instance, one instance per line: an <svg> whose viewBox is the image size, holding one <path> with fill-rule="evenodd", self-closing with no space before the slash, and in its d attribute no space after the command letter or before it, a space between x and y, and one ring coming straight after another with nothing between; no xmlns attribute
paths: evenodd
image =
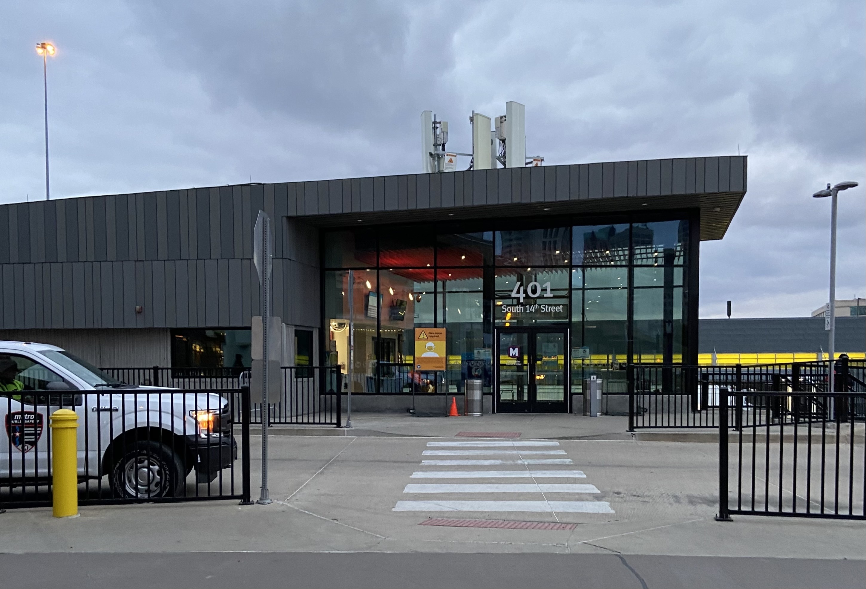
<svg viewBox="0 0 866 589"><path fill-rule="evenodd" d="M866 561L490 553L0 554L2 586L866 587Z"/></svg>

